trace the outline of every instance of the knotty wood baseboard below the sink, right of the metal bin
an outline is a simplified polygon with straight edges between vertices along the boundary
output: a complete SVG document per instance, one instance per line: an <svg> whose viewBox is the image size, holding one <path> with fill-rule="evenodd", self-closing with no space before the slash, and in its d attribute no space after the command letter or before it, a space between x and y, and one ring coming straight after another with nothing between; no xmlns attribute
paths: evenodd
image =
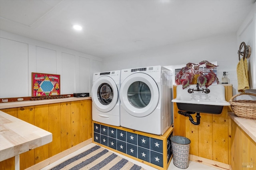
<svg viewBox="0 0 256 170"><path fill-rule="evenodd" d="M210 166L213 168L217 168L220 170L232 170L232 169L230 169L231 166L229 164L224 164L222 162L210 160L207 158L202 158L200 156L196 156L196 155L192 155L192 154L189 155L189 160L200 163L200 164L204 164L204 165L207 165L207 166Z"/></svg>

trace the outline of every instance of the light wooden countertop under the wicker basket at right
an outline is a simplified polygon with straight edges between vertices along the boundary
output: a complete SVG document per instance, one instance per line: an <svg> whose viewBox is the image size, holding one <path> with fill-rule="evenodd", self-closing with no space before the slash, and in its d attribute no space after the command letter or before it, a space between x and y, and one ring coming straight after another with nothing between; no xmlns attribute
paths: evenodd
<svg viewBox="0 0 256 170"><path fill-rule="evenodd" d="M236 122L236 124L241 127L241 129L249 135L249 137L256 142L256 120L243 119L234 115L234 113L228 113L231 119Z"/></svg>

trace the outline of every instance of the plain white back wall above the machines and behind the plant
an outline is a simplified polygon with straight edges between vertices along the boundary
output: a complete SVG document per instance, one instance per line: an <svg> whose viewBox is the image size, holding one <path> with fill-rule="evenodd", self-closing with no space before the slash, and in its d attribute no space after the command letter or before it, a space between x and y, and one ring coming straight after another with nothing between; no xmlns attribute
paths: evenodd
<svg viewBox="0 0 256 170"><path fill-rule="evenodd" d="M230 83L237 88L237 51L236 34L218 35L103 59L103 69L121 70L152 65L198 63L203 60L217 61L219 80L221 80L222 72L226 71Z"/></svg>

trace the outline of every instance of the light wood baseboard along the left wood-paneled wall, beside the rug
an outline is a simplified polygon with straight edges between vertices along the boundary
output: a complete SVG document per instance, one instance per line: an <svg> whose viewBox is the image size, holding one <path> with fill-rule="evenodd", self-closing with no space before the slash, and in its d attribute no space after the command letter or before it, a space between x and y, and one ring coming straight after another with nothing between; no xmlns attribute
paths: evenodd
<svg viewBox="0 0 256 170"><path fill-rule="evenodd" d="M29 168L27 168L26 170L36 170L36 169L42 169L46 166L48 166L49 164L52 164L53 162L56 162L57 160L63 158L64 156L67 156L73 152L75 152L78 149L81 149L82 147L85 147L86 145L89 145L90 143L92 143L92 138L79 143L78 145L75 145L74 147L64 150L63 152L60 152L46 160L43 160L42 162L39 162L33 166L30 166Z"/></svg>

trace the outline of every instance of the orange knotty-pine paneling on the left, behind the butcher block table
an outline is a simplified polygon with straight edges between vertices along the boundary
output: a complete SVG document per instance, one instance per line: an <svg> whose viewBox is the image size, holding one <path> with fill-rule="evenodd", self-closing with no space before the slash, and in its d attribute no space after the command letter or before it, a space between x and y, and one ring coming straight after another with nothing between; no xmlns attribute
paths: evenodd
<svg viewBox="0 0 256 170"><path fill-rule="evenodd" d="M20 154L20 170L92 138L92 100L1 109L52 133L52 142ZM0 170L14 170L14 157L0 162Z"/></svg>

